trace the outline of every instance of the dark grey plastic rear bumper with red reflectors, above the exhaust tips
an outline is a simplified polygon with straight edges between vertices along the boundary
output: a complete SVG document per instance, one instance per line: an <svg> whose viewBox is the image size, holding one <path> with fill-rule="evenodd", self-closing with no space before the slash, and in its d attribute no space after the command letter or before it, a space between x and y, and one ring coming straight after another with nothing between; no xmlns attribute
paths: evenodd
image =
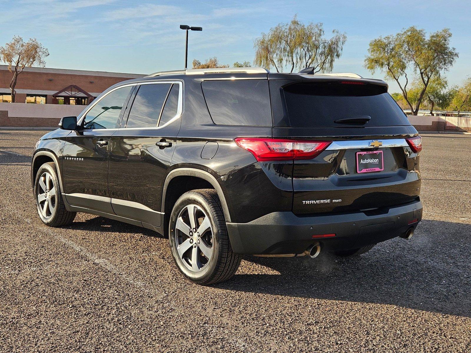
<svg viewBox="0 0 471 353"><path fill-rule="evenodd" d="M317 241L331 251L379 243L406 233L421 220L422 203L414 201L380 210L312 217L274 212L249 223L227 223L227 231L238 254L300 254ZM335 236L313 239L317 234Z"/></svg>

